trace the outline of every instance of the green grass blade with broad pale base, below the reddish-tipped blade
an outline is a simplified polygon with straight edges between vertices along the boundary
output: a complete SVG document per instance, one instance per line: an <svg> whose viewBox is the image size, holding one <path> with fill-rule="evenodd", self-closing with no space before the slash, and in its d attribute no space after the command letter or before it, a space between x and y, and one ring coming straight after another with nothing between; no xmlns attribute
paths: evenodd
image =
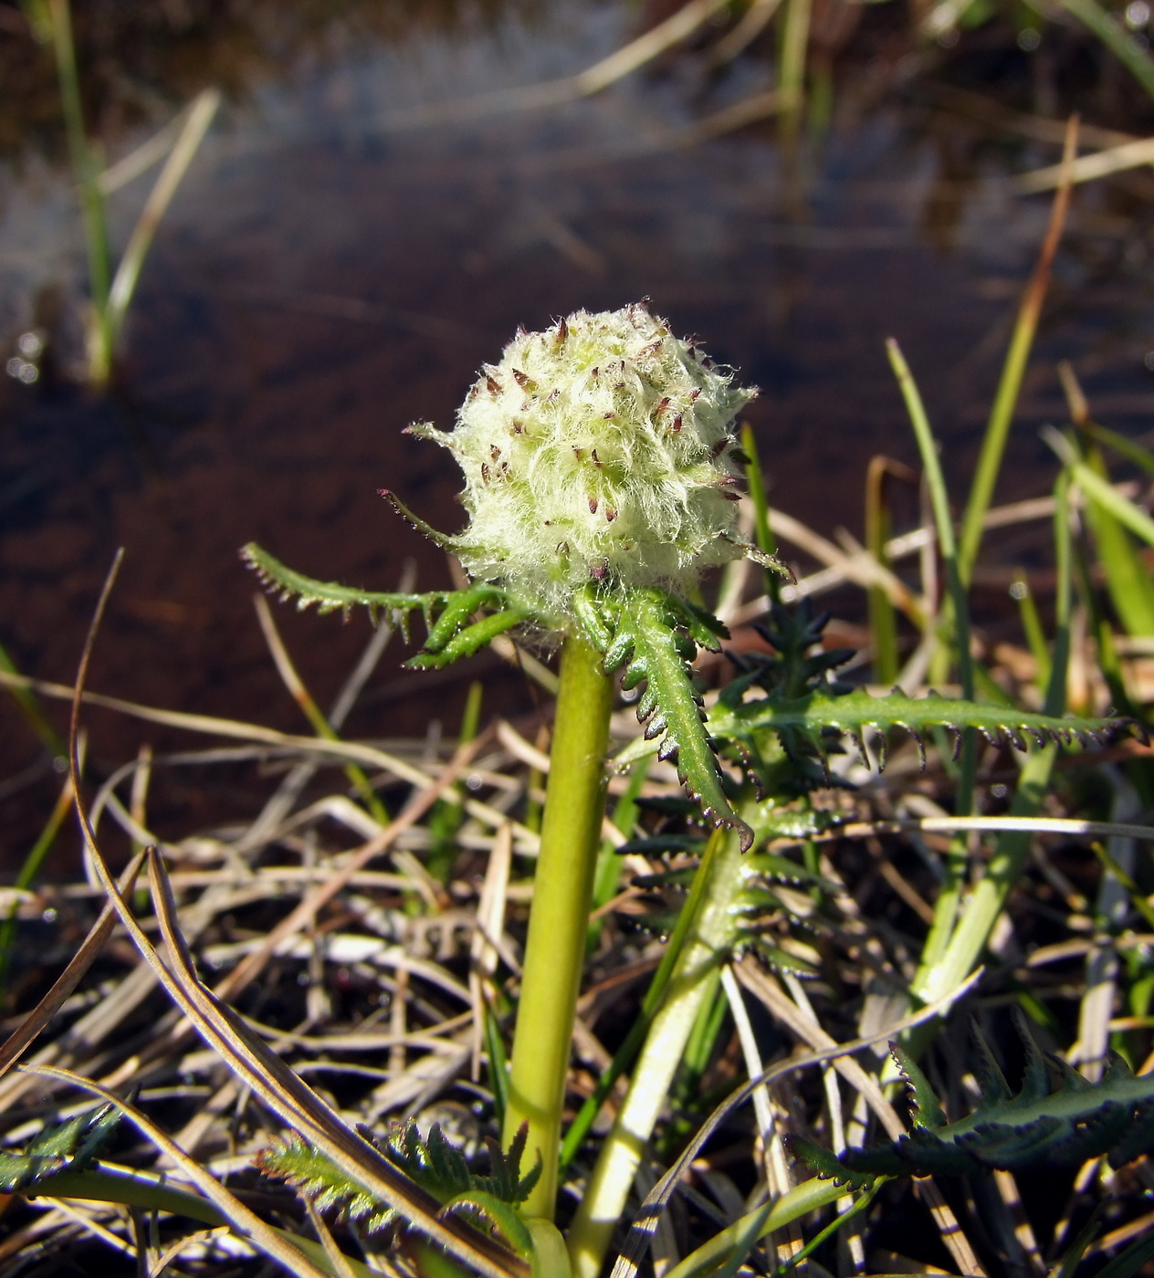
<svg viewBox="0 0 1154 1278"><path fill-rule="evenodd" d="M1070 615L1072 555L1070 541L1070 481L1063 472L1054 489L1054 552L1058 592L1054 601L1054 651L1045 713L1061 714L1066 705L1066 672L1070 666ZM1042 809L1058 748L1034 749L1022 764L1011 818L1030 818ZM1021 875L1030 851L1031 835L1011 831L998 838L985 874L974 888L965 914L950 937L944 952L934 962L923 960L912 992L930 1003L966 979L978 964L1010 891Z"/></svg>

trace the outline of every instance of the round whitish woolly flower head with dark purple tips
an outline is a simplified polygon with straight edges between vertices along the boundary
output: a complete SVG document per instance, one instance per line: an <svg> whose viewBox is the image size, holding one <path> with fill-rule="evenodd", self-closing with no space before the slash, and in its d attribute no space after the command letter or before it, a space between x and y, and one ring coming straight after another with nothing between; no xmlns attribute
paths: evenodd
<svg viewBox="0 0 1154 1278"><path fill-rule="evenodd" d="M760 557L737 529L732 385L644 303L519 331L486 366L456 427L410 431L465 473L469 527L447 543L555 625L590 580L685 594L700 573Z"/></svg>

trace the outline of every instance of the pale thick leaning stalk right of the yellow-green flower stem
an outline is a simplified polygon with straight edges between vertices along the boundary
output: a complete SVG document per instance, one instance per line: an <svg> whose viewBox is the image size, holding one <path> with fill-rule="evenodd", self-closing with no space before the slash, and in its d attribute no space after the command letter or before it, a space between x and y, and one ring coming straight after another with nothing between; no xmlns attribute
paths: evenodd
<svg viewBox="0 0 1154 1278"><path fill-rule="evenodd" d="M741 845L732 831L709 840L685 909L693 911L690 932L670 978L665 1002L653 1020L638 1059L625 1103L606 1137L585 1196L569 1231L574 1278L597 1278L625 1210L633 1178L653 1132L702 1001L709 976L728 955L734 934L734 898L741 891Z"/></svg>

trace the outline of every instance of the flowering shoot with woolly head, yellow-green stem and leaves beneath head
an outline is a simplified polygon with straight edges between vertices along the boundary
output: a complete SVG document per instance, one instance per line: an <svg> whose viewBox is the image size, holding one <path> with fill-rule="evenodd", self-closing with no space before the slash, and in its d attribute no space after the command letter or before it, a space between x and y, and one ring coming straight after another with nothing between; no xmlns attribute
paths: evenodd
<svg viewBox="0 0 1154 1278"><path fill-rule="evenodd" d="M659 754L716 824L751 833L725 791L690 681L696 645L725 627L691 602L705 569L749 556L777 560L737 525L742 456L734 426L753 390L734 385L645 303L579 311L544 332L519 332L486 366L441 432L413 435L460 465L468 527L445 535L477 585L435 596L363 596L304 581L256 547L249 562L302 606L355 602L400 613L420 607L429 638L412 665L443 665L524 625L561 645L551 771L512 1049L505 1143L528 1123L542 1176L524 1205L552 1218L573 1016L588 934L604 812L612 674L645 680L638 705ZM486 615L475 620L478 611Z"/></svg>

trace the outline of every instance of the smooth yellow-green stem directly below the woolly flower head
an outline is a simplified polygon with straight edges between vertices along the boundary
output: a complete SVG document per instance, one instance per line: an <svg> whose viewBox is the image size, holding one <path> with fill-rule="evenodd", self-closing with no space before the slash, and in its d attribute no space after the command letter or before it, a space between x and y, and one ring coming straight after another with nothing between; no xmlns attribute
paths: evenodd
<svg viewBox="0 0 1154 1278"><path fill-rule="evenodd" d="M613 682L601 653L584 639L567 638L561 649L557 718L505 1113L505 1144L527 1122L529 1157L537 1151L543 1160L541 1180L521 1213L550 1220L557 1197L565 1076L604 814L612 702Z"/></svg>

